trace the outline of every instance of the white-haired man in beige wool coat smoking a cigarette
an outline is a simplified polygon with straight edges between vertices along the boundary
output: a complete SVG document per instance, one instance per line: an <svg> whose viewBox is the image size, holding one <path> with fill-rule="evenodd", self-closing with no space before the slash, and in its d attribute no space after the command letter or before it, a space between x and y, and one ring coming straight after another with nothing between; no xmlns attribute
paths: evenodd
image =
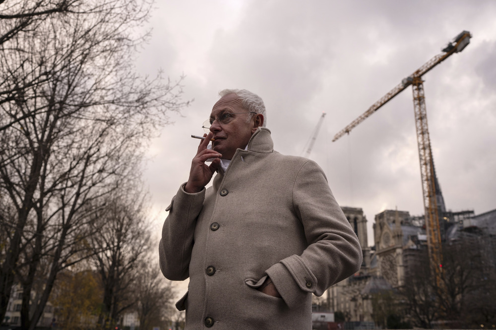
<svg viewBox="0 0 496 330"><path fill-rule="evenodd" d="M360 269L358 238L321 168L272 149L263 101L220 95L167 208L160 268L189 277L186 329L311 329L311 294Z"/></svg>

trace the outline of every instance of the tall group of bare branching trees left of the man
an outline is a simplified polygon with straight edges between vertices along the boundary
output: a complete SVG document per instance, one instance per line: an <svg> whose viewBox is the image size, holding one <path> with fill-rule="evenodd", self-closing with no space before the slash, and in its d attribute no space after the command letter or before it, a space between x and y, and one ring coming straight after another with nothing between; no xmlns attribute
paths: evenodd
<svg viewBox="0 0 496 330"><path fill-rule="evenodd" d="M187 102L182 77L134 71L150 8L0 0L1 321L17 284L23 329L49 301L67 328L90 314L110 328L131 308L141 329L167 315L140 168L147 141Z"/></svg>

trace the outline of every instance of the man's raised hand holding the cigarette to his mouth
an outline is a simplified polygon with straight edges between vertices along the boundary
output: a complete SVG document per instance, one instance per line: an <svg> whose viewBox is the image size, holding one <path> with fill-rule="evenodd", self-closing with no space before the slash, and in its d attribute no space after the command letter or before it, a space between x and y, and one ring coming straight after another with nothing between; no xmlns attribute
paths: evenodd
<svg viewBox="0 0 496 330"><path fill-rule="evenodd" d="M207 183L210 182L210 180L212 179L212 175L220 165L220 158L222 157L222 155L218 152L207 149L208 143L210 142L213 133L210 132L208 133L208 135L203 134L203 136L205 136L205 139L200 141L196 156L191 161L189 178L184 188L185 191L190 194L200 192L203 187L205 187ZM214 158L212 164L210 164L210 166L206 165L205 161L211 158Z"/></svg>

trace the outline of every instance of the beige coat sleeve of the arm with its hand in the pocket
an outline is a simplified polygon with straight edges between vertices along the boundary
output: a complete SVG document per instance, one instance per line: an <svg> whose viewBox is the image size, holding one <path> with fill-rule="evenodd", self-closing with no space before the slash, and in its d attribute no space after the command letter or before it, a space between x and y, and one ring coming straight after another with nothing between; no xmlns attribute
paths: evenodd
<svg viewBox="0 0 496 330"><path fill-rule="evenodd" d="M309 292L321 296L332 284L356 273L363 257L358 237L316 163L308 161L299 171L293 203L309 245L302 255L287 257L266 271L290 308Z"/></svg>

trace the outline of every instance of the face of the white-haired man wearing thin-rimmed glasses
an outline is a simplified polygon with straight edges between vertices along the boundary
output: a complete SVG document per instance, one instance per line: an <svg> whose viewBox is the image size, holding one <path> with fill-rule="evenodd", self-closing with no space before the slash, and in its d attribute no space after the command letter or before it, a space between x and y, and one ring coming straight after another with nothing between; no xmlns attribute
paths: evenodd
<svg viewBox="0 0 496 330"><path fill-rule="evenodd" d="M220 98L212 108L210 119L217 119L224 113L236 113L230 116L228 123L219 123L214 120L210 131L214 134L215 141L212 149L222 154L224 159L232 159L236 149L245 149L252 134L251 121L247 123L248 112L241 105L236 94L228 94Z"/></svg>

